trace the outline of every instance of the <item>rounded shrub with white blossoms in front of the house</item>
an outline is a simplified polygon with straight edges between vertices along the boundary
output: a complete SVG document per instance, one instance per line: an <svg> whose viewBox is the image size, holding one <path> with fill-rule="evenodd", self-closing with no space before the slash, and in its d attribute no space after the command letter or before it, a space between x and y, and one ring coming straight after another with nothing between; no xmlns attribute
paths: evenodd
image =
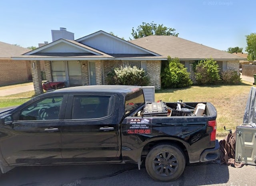
<svg viewBox="0 0 256 186"><path fill-rule="evenodd" d="M106 81L109 85L138 86L147 86L150 82L145 71L136 66L115 68L107 74Z"/></svg>

